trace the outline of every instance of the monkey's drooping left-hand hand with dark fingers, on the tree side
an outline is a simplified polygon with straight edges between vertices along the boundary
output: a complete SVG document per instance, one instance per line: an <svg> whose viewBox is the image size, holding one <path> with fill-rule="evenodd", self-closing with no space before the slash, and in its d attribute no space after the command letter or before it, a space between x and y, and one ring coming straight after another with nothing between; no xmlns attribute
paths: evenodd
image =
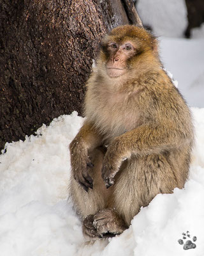
<svg viewBox="0 0 204 256"><path fill-rule="evenodd" d="M89 175L89 169L94 165L91 163L87 150L81 145L80 142L75 143L73 141L70 144L71 153L71 171L74 179L84 188L85 191L89 191L89 188L93 188L93 180Z"/></svg>

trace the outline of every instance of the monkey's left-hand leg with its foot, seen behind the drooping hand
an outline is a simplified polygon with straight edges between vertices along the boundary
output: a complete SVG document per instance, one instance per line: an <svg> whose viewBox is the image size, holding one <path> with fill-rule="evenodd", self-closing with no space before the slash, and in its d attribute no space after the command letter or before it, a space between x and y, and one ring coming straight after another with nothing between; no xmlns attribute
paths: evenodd
<svg viewBox="0 0 204 256"><path fill-rule="evenodd" d="M107 207L108 198L113 189L106 189L105 182L101 178L101 168L105 151L103 148L95 148L90 154L93 168L90 168L89 175L93 179L93 189L86 192L73 177L69 186L70 196L75 210L83 220L83 232L86 236L96 237L96 228L93 226L92 216L101 209Z"/></svg>

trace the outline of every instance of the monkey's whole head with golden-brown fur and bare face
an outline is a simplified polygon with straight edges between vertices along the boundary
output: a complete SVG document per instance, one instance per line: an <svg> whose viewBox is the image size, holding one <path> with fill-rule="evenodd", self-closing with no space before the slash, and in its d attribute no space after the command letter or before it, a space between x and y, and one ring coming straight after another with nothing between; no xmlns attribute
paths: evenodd
<svg viewBox="0 0 204 256"><path fill-rule="evenodd" d="M149 65L156 38L144 28L120 26L113 29L101 42L101 62L108 77L120 77L137 72L142 63ZM156 50L157 51L157 50Z"/></svg>

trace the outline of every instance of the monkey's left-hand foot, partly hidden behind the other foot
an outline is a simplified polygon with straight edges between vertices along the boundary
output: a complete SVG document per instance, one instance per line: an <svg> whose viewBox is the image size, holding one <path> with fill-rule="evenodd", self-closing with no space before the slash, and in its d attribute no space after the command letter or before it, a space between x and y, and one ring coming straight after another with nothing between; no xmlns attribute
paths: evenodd
<svg viewBox="0 0 204 256"><path fill-rule="evenodd" d="M83 221L83 233L84 236L89 239L99 238L98 232L94 227L94 215L88 215Z"/></svg>

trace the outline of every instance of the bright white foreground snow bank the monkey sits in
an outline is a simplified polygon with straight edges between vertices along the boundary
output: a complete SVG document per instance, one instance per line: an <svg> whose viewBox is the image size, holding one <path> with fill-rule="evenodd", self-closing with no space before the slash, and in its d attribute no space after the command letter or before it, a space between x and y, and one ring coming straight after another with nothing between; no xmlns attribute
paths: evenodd
<svg viewBox="0 0 204 256"><path fill-rule="evenodd" d="M131 227L109 240L85 243L68 198L68 145L83 118L77 112L55 118L38 136L6 144L0 156L0 252L38 255L203 255L204 109L192 108L196 145L184 189L157 195L135 216ZM182 232L196 236L183 250Z"/></svg>

